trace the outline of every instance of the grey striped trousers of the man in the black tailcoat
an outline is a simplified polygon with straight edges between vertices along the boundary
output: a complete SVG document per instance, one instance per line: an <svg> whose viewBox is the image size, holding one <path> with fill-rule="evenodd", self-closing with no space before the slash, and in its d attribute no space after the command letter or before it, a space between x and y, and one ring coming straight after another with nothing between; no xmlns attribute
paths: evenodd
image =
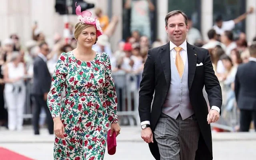
<svg viewBox="0 0 256 160"><path fill-rule="evenodd" d="M194 160L198 148L199 127L195 116L175 120L161 114L154 130L161 160Z"/></svg>

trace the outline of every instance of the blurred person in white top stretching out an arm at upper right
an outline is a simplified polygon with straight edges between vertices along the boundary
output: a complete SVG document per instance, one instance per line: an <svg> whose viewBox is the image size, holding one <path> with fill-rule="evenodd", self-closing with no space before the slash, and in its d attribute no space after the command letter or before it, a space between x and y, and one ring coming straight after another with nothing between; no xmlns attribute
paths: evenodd
<svg viewBox="0 0 256 160"><path fill-rule="evenodd" d="M250 9L246 13L238 16L234 20L223 21L222 16L218 16L215 20L216 24L213 26L213 29L216 30L216 33L220 35L223 34L223 32L226 30L232 30L235 28L235 24L238 24L239 22L244 20L248 14L251 14L253 12L253 10L254 8L250 7Z"/></svg>

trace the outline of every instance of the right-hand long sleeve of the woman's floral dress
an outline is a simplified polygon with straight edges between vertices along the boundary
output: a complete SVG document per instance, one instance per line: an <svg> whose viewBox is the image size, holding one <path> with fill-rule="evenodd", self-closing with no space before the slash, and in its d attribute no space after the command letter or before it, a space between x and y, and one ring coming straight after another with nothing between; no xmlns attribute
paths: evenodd
<svg viewBox="0 0 256 160"><path fill-rule="evenodd" d="M106 53L104 53L106 54ZM105 59L105 66L106 66L106 72L105 72L105 79L106 83L104 86L104 96L105 96L105 103L108 108L108 120L110 123L117 123L117 96L116 96L116 89L114 86L113 78L112 78L112 71L111 71L111 64L110 64L110 58L108 54L106 54Z"/></svg>

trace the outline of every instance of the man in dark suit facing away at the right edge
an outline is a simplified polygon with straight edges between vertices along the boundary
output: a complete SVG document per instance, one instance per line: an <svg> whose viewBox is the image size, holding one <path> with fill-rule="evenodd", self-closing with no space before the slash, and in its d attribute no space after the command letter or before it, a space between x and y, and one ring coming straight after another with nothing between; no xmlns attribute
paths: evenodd
<svg viewBox="0 0 256 160"><path fill-rule="evenodd" d="M240 131L248 132L252 119L256 130L256 43L249 47L249 62L238 66L235 95L240 109Z"/></svg>

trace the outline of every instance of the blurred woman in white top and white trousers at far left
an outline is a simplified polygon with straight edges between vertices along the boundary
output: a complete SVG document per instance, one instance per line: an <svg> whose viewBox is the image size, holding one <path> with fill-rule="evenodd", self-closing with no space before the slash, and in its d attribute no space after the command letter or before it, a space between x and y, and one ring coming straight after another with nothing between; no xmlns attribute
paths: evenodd
<svg viewBox="0 0 256 160"><path fill-rule="evenodd" d="M4 95L8 108L9 130L22 130L26 86L26 70L20 60L20 53L13 52L11 61L4 67Z"/></svg>

